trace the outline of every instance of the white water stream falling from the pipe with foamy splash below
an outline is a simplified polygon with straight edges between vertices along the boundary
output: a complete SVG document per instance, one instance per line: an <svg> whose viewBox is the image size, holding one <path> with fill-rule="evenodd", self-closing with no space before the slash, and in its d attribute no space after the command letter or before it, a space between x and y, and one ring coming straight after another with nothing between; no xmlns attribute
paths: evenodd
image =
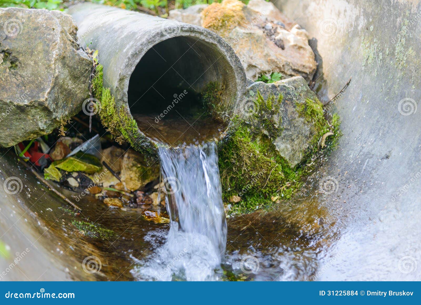
<svg viewBox="0 0 421 305"><path fill-rule="evenodd" d="M133 273L160 281L215 280L226 247L216 144L160 147L158 152L171 228L165 244Z"/></svg>

